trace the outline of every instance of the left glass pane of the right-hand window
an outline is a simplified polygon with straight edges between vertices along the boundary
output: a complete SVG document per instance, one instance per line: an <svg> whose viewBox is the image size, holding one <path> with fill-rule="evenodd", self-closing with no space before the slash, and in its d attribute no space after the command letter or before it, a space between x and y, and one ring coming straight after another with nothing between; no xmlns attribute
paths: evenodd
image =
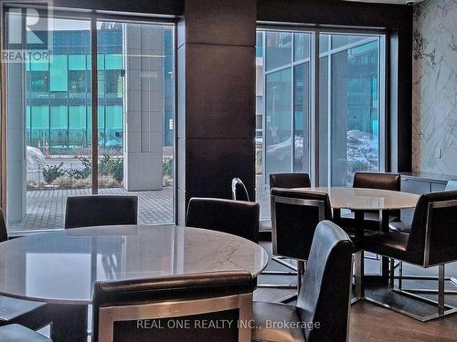
<svg viewBox="0 0 457 342"><path fill-rule="evenodd" d="M265 32L265 182L309 170L310 36Z"/></svg>

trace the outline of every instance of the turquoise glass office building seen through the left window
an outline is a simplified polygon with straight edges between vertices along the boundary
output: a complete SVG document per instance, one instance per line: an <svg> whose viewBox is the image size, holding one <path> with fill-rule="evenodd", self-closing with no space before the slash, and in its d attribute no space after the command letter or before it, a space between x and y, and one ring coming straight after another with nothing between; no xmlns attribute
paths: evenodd
<svg viewBox="0 0 457 342"><path fill-rule="evenodd" d="M165 50L164 146L173 145L173 36L161 30ZM99 146L123 146L125 53L122 24L98 29ZM27 145L52 154L90 147L90 30L55 30L49 63L27 61ZM140 81L140 80L138 80Z"/></svg>

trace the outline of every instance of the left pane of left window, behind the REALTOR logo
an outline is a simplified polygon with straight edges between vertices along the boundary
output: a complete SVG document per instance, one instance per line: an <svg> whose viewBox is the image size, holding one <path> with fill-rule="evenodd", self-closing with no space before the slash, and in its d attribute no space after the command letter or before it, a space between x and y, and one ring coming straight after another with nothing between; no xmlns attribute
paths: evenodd
<svg viewBox="0 0 457 342"><path fill-rule="evenodd" d="M6 47L33 58L6 63L6 219L10 231L61 228L69 193L90 194L90 21L48 17L48 31L27 32L28 12L6 12ZM49 57L36 49L48 35ZM34 40L35 39L35 40Z"/></svg>

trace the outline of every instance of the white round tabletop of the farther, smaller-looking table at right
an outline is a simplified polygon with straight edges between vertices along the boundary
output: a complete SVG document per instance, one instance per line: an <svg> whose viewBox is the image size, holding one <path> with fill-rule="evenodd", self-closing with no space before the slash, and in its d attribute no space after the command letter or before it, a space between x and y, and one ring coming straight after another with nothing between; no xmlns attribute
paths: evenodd
<svg viewBox="0 0 457 342"><path fill-rule="evenodd" d="M409 192L349 187L312 187L295 190L327 192L334 209L395 210L414 208L419 195Z"/></svg>

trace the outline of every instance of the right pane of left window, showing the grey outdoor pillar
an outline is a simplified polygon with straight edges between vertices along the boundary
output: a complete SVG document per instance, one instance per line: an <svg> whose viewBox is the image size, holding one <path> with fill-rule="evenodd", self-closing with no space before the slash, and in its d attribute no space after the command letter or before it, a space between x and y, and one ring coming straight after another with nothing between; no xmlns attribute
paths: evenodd
<svg viewBox="0 0 457 342"><path fill-rule="evenodd" d="M97 22L99 193L135 194L140 223L174 221L174 29Z"/></svg>

